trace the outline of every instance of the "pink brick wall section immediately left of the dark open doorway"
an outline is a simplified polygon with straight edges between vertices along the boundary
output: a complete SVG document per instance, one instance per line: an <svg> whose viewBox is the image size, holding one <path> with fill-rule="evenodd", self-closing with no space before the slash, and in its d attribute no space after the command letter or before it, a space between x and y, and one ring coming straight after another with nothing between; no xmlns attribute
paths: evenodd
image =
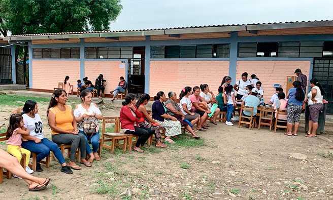
<svg viewBox="0 0 333 200"><path fill-rule="evenodd" d="M99 74L103 74L107 81L105 89L106 94L118 86L119 77L125 77L125 68L119 68L120 61L85 61L85 76L95 84L95 80Z"/></svg>

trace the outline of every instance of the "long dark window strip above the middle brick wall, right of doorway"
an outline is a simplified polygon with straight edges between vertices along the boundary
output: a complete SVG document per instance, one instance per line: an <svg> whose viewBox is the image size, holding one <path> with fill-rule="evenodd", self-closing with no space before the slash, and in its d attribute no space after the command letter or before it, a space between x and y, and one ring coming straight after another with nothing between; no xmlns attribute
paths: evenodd
<svg viewBox="0 0 333 200"><path fill-rule="evenodd" d="M230 45L152 46L150 58L229 58Z"/></svg>

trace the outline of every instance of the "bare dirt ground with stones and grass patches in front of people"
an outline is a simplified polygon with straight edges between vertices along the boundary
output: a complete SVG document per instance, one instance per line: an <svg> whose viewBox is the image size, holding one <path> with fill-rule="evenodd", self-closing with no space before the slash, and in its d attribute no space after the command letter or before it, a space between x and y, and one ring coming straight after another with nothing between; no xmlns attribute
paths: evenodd
<svg viewBox="0 0 333 200"><path fill-rule="evenodd" d="M120 102L115 104L106 106L103 115L118 116ZM0 123L8 123L4 117L13 108L1 106ZM39 108L50 138L46 103ZM210 124L207 132L198 133L203 145L170 144L144 153L103 149L102 161L72 175L61 173L57 161L49 169L42 165L44 171L32 175L52 180L40 192L28 192L24 181L5 178L0 199L333 199L333 129L325 129L317 138L306 138L304 125L299 136L288 137L283 130ZM187 135L182 140L192 139ZM126 189L131 195L119 197Z"/></svg>

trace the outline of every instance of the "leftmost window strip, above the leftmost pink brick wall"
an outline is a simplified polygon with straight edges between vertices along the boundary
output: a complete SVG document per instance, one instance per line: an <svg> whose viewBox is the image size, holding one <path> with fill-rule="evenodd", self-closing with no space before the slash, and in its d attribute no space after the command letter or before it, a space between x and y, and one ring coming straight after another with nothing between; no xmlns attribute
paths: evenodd
<svg viewBox="0 0 333 200"><path fill-rule="evenodd" d="M34 49L34 58L80 58L80 48Z"/></svg>

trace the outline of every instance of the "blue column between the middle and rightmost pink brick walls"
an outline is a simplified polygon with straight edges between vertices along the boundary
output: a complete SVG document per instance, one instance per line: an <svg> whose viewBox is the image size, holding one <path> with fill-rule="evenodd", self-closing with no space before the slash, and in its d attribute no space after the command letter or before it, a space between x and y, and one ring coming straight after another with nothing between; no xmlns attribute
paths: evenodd
<svg viewBox="0 0 333 200"><path fill-rule="evenodd" d="M229 76L231 77L231 84L236 83L236 71L237 71L237 46L238 36L237 32L230 33L230 56L229 56ZM222 79L223 77L221 77Z"/></svg>

